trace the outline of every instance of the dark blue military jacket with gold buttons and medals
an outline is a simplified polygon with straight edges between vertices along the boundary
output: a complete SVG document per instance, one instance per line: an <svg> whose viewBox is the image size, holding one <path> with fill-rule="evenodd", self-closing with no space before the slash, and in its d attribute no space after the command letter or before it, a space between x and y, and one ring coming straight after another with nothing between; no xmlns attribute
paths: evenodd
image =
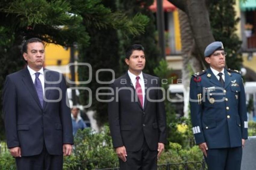
<svg viewBox="0 0 256 170"><path fill-rule="evenodd" d="M210 149L239 147L242 138L248 137L242 77L238 71L230 69L224 69L224 75L224 88L211 68L192 75L190 82L189 102L195 141L196 144L206 142Z"/></svg>

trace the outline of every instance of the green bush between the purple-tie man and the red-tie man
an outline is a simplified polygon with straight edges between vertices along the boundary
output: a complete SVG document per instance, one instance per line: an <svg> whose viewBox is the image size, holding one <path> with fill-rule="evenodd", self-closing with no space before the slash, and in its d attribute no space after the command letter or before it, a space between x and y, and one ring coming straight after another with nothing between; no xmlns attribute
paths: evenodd
<svg viewBox="0 0 256 170"><path fill-rule="evenodd" d="M114 152L108 126L100 133L86 128L75 136L73 155L65 157L64 169L95 169L118 166L118 157Z"/></svg>

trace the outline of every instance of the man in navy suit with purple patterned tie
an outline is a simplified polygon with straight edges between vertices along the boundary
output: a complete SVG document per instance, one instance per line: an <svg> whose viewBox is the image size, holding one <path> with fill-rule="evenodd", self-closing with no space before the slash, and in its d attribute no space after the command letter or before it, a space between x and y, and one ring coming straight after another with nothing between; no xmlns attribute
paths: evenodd
<svg viewBox="0 0 256 170"><path fill-rule="evenodd" d="M65 80L43 69L39 38L25 41L22 53L27 67L9 74L3 90L7 145L18 170L60 170L73 144Z"/></svg>

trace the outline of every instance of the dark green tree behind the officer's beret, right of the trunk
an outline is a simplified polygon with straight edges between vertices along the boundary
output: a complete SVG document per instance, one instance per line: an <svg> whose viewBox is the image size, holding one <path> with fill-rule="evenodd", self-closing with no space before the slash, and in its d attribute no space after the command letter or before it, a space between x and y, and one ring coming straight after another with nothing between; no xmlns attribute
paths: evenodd
<svg viewBox="0 0 256 170"><path fill-rule="evenodd" d="M239 18L236 18L234 0L209 1L209 15L211 28L216 41L222 41L228 68L240 70L242 65L241 49L242 41L236 34L236 25Z"/></svg>

